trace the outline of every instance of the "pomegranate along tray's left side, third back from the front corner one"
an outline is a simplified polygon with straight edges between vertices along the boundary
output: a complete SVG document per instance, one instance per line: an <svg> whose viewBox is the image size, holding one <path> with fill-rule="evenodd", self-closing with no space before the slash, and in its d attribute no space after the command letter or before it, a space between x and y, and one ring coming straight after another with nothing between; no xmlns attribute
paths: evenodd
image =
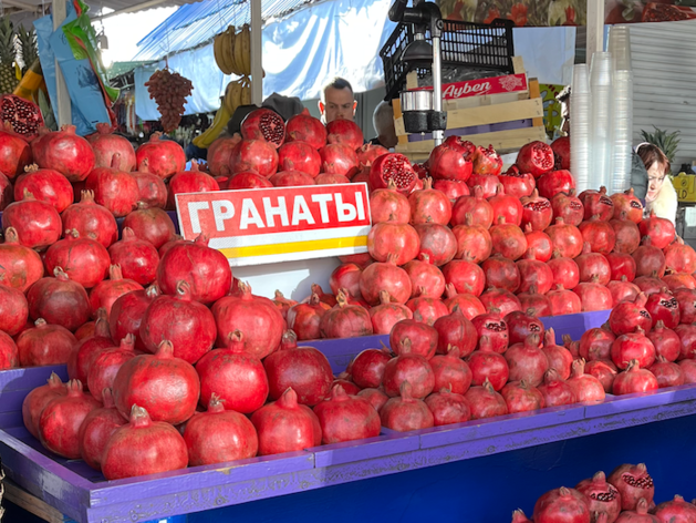
<svg viewBox="0 0 696 523"><path fill-rule="evenodd" d="M67 383L67 393L53 398L41 412L39 438L43 447L69 460L80 458L80 425L100 408L98 401L82 391L79 380Z"/></svg>

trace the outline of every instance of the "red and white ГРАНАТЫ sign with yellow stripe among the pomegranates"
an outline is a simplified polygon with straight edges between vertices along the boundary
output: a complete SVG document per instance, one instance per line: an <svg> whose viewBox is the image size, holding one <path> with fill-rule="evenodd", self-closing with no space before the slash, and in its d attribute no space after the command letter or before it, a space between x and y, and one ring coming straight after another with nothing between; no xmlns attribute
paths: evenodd
<svg viewBox="0 0 696 523"><path fill-rule="evenodd" d="M232 266L365 253L372 225L365 184L177 194L176 209Z"/></svg>

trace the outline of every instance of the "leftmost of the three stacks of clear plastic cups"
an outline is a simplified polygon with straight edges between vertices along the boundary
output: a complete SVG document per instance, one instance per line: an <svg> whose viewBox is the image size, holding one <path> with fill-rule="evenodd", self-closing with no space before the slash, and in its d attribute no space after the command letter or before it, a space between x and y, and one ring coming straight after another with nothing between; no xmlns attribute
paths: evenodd
<svg viewBox="0 0 696 523"><path fill-rule="evenodd" d="M573 65L570 91L570 170L578 193L590 188L590 115L592 96L588 65Z"/></svg>

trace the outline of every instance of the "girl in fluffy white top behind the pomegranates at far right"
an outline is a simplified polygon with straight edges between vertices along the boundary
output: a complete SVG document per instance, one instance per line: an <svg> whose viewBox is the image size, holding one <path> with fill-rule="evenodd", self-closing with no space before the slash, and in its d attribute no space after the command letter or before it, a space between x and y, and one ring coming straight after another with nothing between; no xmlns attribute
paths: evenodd
<svg viewBox="0 0 696 523"><path fill-rule="evenodd" d="M667 177L672 174L669 160L662 150L651 143L642 143L635 147L647 171L647 193L645 195L645 216L651 211L659 218L667 218L673 224L677 214L677 193Z"/></svg>

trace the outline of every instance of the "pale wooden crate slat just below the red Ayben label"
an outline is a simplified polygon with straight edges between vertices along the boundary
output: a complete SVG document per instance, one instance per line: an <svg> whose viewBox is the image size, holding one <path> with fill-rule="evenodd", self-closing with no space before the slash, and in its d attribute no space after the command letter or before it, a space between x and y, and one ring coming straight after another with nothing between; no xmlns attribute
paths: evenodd
<svg viewBox="0 0 696 523"><path fill-rule="evenodd" d="M491 123L515 122L543 117L543 103L541 99L520 100L517 102L500 103L480 107L459 109L447 113L447 129L471 127L475 125L488 125ZM403 117L398 121L402 122ZM399 130L398 121L395 122L396 134L404 134Z"/></svg>

